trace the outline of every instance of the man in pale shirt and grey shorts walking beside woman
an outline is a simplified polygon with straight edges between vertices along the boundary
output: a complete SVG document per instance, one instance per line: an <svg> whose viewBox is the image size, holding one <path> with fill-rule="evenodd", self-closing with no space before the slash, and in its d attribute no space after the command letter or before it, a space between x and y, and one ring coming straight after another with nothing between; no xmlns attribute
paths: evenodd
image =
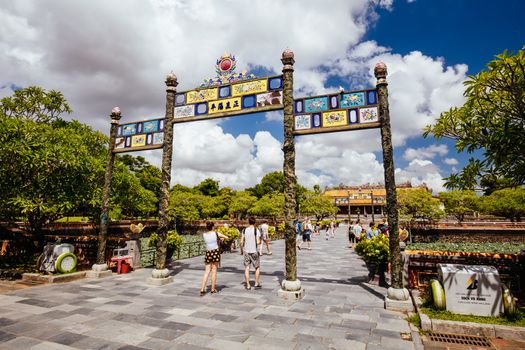
<svg viewBox="0 0 525 350"><path fill-rule="evenodd" d="M241 255L244 259L244 279L246 280L246 289L251 290L250 284L250 266L255 269L255 288L261 288L259 281L260 276L260 258L257 246L261 244L261 231L255 227L255 218L248 219L249 226L241 234Z"/></svg>

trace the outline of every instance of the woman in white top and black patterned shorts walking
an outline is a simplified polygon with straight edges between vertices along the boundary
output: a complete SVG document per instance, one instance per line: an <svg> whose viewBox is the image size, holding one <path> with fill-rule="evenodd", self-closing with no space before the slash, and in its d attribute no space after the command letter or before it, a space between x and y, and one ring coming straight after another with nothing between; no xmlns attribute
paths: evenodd
<svg viewBox="0 0 525 350"><path fill-rule="evenodd" d="M206 221L207 232L202 234L204 243L206 244L206 254L204 255L204 276L201 281L200 295L206 294L206 284L208 284L208 277L211 271L211 293L217 293L217 269L221 264L221 252L219 251L220 239L228 239L229 237L213 231L214 223Z"/></svg>

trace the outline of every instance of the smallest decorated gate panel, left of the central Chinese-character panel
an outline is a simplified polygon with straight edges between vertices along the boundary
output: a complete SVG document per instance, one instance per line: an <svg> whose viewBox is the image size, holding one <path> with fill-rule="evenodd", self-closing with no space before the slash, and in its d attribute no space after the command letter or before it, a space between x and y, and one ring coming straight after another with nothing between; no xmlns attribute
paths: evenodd
<svg viewBox="0 0 525 350"><path fill-rule="evenodd" d="M145 120L119 125L115 153L162 148L164 119Z"/></svg>

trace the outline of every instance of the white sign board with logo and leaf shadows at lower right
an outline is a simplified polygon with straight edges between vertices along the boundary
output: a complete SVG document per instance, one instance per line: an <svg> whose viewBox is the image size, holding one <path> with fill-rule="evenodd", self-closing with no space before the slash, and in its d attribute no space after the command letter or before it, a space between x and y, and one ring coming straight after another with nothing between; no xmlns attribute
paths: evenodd
<svg viewBox="0 0 525 350"><path fill-rule="evenodd" d="M447 310L464 315L499 316L501 282L494 266L438 264Z"/></svg>

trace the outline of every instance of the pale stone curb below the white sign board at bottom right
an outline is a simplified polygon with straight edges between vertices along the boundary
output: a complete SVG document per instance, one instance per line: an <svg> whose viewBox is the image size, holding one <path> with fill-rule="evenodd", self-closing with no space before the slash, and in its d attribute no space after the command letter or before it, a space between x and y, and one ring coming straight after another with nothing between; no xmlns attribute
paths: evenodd
<svg viewBox="0 0 525 350"><path fill-rule="evenodd" d="M422 303L419 295L416 295L412 290L410 295L414 299L416 311L421 319L421 330L525 341L525 327L431 319L421 311Z"/></svg>

